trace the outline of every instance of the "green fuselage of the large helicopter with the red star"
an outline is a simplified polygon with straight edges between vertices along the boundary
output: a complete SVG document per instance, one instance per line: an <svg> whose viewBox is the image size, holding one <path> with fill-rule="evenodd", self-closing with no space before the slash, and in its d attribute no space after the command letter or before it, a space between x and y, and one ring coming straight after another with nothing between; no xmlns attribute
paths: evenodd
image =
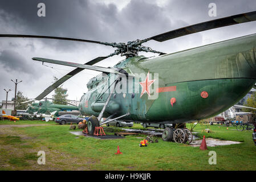
<svg viewBox="0 0 256 182"><path fill-rule="evenodd" d="M154 123L213 117L236 104L255 84L255 46L253 34L158 57L120 61L114 68L124 69L129 77L117 82L119 89L113 92L104 117L129 113L124 121ZM88 82L88 92L79 105L83 114L99 115L111 92L112 77L116 75L101 74Z"/></svg>

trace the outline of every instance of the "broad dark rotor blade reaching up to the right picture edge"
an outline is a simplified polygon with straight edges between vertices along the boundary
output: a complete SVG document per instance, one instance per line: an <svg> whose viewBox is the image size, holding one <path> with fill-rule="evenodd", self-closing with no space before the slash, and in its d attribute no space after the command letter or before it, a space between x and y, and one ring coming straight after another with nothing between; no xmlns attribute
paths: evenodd
<svg viewBox="0 0 256 182"><path fill-rule="evenodd" d="M225 18L214 19L214 20L210 20L208 22L202 22L202 23L193 24L193 25L183 27L183 28L178 28L176 30L172 30L169 32L165 32L163 34L152 36L151 38L144 39L144 40L145 41L156 40L158 42L164 42L165 40L178 38L178 37L184 36L184 35L194 34L196 32L210 30L213 28L230 26L230 25L238 24L238 23L251 22L251 21L255 21L255 20L256 20L256 11L251 11L249 13L228 16ZM142 41L145 42L144 40L142 40Z"/></svg>

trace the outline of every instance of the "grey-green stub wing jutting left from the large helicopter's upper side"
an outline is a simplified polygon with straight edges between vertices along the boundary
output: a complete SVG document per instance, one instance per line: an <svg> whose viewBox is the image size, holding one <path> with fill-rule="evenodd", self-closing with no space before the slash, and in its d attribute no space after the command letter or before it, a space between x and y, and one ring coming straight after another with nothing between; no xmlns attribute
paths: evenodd
<svg viewBox="0 0 256 182"><path fill-rule="evenodd" d="M32 60L42 61L42 62L52 63L52 64L60 64L60 65L68 66L68 67L91 69L91 70L99 71L99 72L106 72L106 73L115 73L116 72L115 69L112 69L112 68L104 68L104 67L97 67L97 66L94 66L94 65L72 63L72 62L59 61L59 60L53 60L53 59L45 59L45 58L42 58L42 57L33 57Z"/></svg>

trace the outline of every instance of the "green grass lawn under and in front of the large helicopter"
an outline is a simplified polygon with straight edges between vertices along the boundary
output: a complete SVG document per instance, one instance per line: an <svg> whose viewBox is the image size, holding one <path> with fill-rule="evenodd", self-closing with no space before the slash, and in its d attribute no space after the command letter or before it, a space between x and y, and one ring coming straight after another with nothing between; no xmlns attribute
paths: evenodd
<svg viewBox="0 0 256 182"><path fill-rule="evenodd" d="M48 126L2 127L1 125ZM125 139L100 140L69 133L70 125L42 121L0 121L0 169L1 170L255 170L256 146L252 131L237 131L235 127L211 126L213 133L201 133L198 125L194 131L198 137L218 138L242 142L229 146L199 147L164 142L139 147L145 135L127 136ZM131 128L129 128L131 129ZM135 124L132 129L143 129ZM107 134L118 131L116 127L105 129ZM76 130L82 131L82 130ZM115 155L117 146L123 155ZM46 164L37 163L38 151L45 151ZM217 154L217 164L210 165L209 151Z"/></svg>

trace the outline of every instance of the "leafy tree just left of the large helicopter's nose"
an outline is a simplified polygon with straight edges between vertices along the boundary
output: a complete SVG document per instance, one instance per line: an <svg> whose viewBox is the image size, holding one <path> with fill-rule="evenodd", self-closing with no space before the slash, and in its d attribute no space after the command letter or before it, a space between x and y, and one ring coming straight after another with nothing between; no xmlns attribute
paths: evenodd
<svg viewBox="0 0 256 182"><path fill-rule="evenodd" d="M54 77L54 82L56 82L57 80L58 78ZM67 89L63 89L62 86L63 85L60 85L54 90L55 94L52 95L52 98L54 99L52 100L53 104L67 105L66 103L64 103L67 102Z"/></svg>

